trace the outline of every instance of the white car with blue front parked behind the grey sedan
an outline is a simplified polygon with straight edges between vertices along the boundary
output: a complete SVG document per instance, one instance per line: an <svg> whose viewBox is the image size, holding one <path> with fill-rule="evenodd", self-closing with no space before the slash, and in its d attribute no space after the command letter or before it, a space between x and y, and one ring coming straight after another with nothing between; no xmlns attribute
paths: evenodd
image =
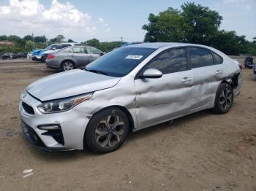
<svg viewBox="0 0 256 191"><path fill-rule="evenodd" d="M45 49L33 50L32 51L32 60L45 62L48 54L57 52L58 50L61 50L64 47L76 46L76 45L80 45L80 44L75 43L75 42L65 42L65 43L61 43L61 44L50 44L50 46L46 47Z"/></svg>

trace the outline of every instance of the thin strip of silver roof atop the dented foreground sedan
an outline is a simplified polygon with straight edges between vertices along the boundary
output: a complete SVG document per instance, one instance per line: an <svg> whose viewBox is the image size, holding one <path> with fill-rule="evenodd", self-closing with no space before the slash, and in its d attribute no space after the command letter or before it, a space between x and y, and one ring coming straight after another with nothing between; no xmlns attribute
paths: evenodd
<svg viewBox="0 0 256 191"><path fill-rule="evenodd" d="M200 44L189 44L189 43L179 43L179 42L151 42L151 43L132 44L127 47L159 49L160 47L186 47L186 46L207 47Z"/></svg>

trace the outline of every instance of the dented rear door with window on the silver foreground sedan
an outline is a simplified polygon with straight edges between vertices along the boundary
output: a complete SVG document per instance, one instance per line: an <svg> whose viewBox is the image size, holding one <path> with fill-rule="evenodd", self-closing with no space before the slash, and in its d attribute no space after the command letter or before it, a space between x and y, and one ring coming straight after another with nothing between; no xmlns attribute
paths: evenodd
<svg viewBox="0 0 256 191"><path fill-rule="evenodd" d="M223 59L203 47L188 47L189 63L193 74L191 109L200 109L214 100L216 90L222 81Z"/></svg>

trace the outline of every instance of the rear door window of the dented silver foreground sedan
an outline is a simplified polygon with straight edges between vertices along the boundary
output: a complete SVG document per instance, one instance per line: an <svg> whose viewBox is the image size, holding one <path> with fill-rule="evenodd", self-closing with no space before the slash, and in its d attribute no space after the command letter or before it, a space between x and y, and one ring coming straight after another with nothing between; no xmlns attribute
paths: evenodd
<svg viewBox="0 0 256 191"><path fill-rule="evenodd" d="M214 65L214 58L212 57L210 50L190 47L189 54L192 69Z"/></svg>

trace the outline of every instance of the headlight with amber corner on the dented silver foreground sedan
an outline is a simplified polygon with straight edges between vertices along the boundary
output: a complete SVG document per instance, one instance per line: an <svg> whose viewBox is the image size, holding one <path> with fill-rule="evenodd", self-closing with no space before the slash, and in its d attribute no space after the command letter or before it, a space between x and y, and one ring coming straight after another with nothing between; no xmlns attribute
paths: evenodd
<svg viewBox="0 0 256 191"><path fill-rule="evenodd" d="M37 106L40 112L44 114L55 113L55 112L65 112L77 106L83 101L91 98L93 93L87 93L85 95L73 96L70 98L62 98L54 101L46 101L45 103Z"/></svg>

